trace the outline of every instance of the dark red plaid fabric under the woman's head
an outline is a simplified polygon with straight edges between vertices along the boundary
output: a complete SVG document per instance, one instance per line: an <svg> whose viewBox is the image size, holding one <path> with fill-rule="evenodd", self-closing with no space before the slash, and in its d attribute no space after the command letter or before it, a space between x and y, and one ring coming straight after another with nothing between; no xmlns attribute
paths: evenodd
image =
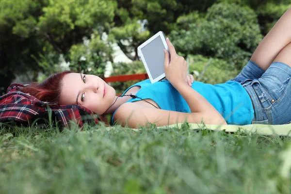
<svg viewBox="0 0 291 194"><path fill-rule="evenodd" d="M12 84L7 93L0 97L0 122L16 122L28 124L33 117L43 113L54 113L61 128L68 127L71 121L80 127L84 121L93 119L98 123L97 115L89 109L79 105L60 105L38 100L37 98L20 92L23 85ZM88 119L89 118L89 119Z"/></svg>

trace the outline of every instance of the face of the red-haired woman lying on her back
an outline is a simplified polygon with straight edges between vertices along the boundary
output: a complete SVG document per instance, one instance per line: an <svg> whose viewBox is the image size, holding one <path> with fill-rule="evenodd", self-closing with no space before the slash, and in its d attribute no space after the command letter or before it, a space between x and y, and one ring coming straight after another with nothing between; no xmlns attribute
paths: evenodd
<svg viewBox="0 0 291 194"><path fill-rule="evenodd" d="M62 80L60 104L80 104L94 113L103 114L114 98L114 88L95 75L69 73Z"/></svg>

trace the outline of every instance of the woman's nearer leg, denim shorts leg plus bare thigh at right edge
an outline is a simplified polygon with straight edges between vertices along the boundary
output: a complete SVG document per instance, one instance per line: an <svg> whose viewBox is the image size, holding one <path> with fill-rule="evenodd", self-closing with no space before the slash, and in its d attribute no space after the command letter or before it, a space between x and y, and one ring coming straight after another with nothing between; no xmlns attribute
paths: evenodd
<svg viewBox="0 0 291 194"><path fill-rule="evenodd" d="M253 123L291 123L291 43L279 52L266 72L247 87L254 105Z"/></svg>

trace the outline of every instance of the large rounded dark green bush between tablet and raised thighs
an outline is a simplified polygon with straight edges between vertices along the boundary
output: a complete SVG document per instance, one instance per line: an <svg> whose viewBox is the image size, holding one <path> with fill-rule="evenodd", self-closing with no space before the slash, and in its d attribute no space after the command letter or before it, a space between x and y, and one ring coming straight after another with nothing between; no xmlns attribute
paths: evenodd
<svg viewBox="0 0 291 194"><path fill-rule="evenodd" d="M189 30L171 32L172 42L184 54L202 54L226 60L241 69L262 39L256 14L248 7L219 3Z"/></svg>

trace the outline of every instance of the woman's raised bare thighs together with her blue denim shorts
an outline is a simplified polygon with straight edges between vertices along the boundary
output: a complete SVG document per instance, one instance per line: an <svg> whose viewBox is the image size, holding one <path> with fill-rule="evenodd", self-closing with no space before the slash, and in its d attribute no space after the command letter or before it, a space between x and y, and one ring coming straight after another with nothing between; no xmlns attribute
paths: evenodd
<svg viewBox="0 0 291 194"><path fill-rule="evenodd" d="M251 97L255 111L253 124L291 123L290 66L291 9L288 9L261 41L250 62L233 79Z"/></svg>

